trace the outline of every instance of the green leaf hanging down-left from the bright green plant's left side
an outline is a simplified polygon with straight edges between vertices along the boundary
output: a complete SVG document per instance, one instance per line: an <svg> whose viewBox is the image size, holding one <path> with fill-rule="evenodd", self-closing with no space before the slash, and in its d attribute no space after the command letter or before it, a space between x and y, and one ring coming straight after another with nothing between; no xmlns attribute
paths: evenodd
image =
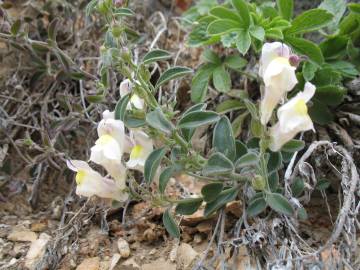
<svg viewBox="0 0 360 270"><path fill-rule="evenodd" d="M202 102L206 98L209 80L215 66L212 64L203 65L195 74L191 82L191 101Z"/></svg>

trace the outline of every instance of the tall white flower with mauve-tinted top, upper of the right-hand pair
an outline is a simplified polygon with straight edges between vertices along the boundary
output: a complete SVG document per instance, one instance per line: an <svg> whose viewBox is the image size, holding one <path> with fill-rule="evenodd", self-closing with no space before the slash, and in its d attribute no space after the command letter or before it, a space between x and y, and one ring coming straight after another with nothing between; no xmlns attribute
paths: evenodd
<svg viewBox="0 0 360 270"><path fill-rule="evenodd" d="M295 67L289 59L293 57L290 48L280 42L265 43L260 58L259 75L265 83L265 91L260 103L261 123L266 125L276 105L286 92L297 84Z"/></svg>

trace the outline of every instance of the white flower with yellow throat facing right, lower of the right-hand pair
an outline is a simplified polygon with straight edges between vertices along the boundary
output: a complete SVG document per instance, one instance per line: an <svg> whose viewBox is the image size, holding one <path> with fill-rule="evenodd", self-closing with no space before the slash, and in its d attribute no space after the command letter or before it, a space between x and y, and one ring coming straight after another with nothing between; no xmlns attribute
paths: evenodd
<svg viewBox="0 0 360 270"><path fill-rule="evenodd" d="M315 86L305 84L303 92L298 93L277 111L278 123L270 128L271 151L278 151L301 131L314 130L306 103L315 94Z"/></svg>

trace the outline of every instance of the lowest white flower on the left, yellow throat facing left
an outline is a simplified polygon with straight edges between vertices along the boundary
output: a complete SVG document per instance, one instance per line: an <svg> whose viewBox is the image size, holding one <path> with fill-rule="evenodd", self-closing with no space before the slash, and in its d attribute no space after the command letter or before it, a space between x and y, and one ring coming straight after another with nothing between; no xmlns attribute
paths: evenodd
<svg viewBox="0 0 360 270"><path fill-rule="evenodd" d="M76 172L76 194L91 197L96 195L100 198L108 198L117 201L125 201L128 197L112 179L102 177L90 166L81 160L68 160L67 166Z"/></svg>

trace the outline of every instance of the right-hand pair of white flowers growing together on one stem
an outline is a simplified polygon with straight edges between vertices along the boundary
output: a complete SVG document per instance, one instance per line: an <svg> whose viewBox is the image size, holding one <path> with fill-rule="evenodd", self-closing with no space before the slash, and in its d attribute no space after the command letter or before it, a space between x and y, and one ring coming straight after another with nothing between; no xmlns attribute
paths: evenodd
<svg viewBox="0 0 360 270"><path fill-rule="evenodd" d="M298 83L296 66L299 57L291 54L288 46L280 42L265 43L262 48L259 75L265 89L260 103L260 120L267 125L275 107L284 103L287 93ZM301 131L314 130L306 103L315 94L315 86L307 82L299 92L277 110L278 122L270 128L270 150L279 151Z"/></svg>

